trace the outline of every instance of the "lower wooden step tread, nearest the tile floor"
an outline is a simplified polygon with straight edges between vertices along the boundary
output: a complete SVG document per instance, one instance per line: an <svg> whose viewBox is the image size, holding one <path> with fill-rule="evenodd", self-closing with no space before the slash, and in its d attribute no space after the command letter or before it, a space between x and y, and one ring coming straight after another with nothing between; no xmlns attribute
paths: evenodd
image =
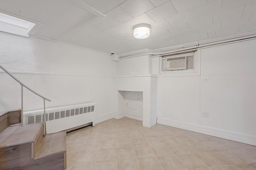
<svg viewBox="0 0 256 170"><path fill-rule="evenodd" d="M34 159L66 152L66 131L48 134L42 138Z"/></svg>

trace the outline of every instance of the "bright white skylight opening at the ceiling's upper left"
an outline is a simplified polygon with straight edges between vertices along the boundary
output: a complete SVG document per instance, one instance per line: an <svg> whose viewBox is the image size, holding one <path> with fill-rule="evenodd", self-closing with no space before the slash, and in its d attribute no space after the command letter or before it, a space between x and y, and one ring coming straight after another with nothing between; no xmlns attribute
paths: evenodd
<svg viewBox="0 0 256 170"><path fill-rule="evenodd" d="M29 32L36 24L0 13L0 31L29 37Z"/></svg>

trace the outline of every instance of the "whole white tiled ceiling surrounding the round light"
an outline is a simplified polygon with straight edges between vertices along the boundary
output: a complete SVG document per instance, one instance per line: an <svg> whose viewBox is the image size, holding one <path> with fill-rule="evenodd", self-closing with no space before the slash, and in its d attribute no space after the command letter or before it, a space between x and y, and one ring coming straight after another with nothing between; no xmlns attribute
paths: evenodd
<svg viewBox="0 0 256 170"><path fill-rule="evenodd" d="M36 23L31 36L107 53L256 34L256 0L0 0L0 12ZM135 39L144 23L150 37Z"/></svg>

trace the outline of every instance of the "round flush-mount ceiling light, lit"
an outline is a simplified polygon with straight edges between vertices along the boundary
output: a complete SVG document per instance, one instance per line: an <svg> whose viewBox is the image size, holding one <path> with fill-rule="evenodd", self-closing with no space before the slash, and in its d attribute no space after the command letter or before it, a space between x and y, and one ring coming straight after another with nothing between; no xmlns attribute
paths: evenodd
<svg viewBox="0 0 256 170"><path fill-rule="evenodd" d="M138 24L133 27L133 36L137 39L145 39L150 36L150 25Z"/></svg>

